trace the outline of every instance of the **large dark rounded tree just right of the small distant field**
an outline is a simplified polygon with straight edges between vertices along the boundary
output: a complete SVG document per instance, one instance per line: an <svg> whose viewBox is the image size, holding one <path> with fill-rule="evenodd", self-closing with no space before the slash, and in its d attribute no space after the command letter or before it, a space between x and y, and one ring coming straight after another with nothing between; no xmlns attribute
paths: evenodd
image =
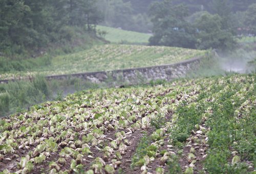
<svg viewBox="0 0 256 174"><path fill-rule="evenodd" d="M150 7L154 36L150 45L195 48L195 28L185 17L188 15L184 5L173 5L172 1L155 2Z"/></svg>

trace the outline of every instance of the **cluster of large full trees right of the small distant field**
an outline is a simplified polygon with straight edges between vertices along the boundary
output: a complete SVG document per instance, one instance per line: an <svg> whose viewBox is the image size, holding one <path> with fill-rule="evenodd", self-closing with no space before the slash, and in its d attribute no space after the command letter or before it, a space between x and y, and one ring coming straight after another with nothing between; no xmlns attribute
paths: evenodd
<svg viewBox="0 0 256 174"><path fill-rule="evenodd" d="M185 19L188 16L186 6L174 5L173 1L153 3L150 16L154 24L154 36L150 38L150 44L198 49L231 49L235 41L230 30L230 12L227 7L229 6L225 2L215 1L213 8L216 9L216 15L201 13L191 24Z"/></svg>

